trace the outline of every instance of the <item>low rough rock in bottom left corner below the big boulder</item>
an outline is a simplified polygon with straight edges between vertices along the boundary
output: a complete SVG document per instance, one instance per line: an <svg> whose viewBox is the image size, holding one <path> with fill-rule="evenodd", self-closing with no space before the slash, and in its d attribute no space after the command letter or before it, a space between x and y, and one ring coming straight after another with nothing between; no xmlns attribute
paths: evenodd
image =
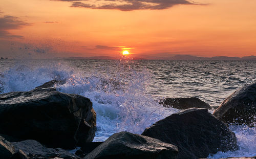
<svg viewBox="0 0 256 159"><path fill-rule="evenodd" d="M0 136L0 150L1 159L14 159L14 158L66 158L66 159L78 159L77 155L74 155L61 148L46 148L35 140L25 140L20 142L9 142ZM8 152L8 153L7 153Z"/></svg>

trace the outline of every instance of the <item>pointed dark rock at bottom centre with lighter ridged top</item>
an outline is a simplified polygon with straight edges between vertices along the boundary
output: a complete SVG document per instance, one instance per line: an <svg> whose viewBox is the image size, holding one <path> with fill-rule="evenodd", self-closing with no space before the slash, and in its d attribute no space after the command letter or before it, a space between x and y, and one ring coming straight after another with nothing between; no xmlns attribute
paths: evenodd
<svg viewBox="0 0 256 159"><path fill-rule="evenodd" d="M84 157L88 158L176 158L178 148L157 139L130 132L113 134Z"/></svg>

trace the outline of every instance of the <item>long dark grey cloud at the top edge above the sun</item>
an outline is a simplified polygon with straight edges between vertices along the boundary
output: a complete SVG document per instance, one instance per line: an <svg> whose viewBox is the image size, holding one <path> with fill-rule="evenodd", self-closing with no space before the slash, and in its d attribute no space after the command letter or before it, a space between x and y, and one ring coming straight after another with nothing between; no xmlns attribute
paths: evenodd
<svg viewBox="0 0 256 159"><path fill-rule="evenodd" d="M68 0L59 0L68 1ZM121 11L132 11L132 10L161 10L173 7L175 5L197 5L194 2L187 0L105 0L94 3L92 0L87 0L87 3L73 2L70 7L80 8L91 8L91 9L116 9ZM108 3L108 4L106 4Z"/></svg>

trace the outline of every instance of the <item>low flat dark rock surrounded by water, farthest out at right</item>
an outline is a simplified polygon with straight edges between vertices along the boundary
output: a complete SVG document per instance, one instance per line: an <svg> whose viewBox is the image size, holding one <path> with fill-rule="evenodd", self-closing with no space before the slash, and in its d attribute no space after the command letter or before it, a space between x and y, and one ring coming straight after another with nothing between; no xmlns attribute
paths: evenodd
<svg viewBox="0 0 256 159"><path fill-rule="evenodd" d="M162 104L164 107L173 107L176 109L188 109L188 108L205 108L211 109L211 106L199 98L166 98L160 100L159 104Z"/></svg>

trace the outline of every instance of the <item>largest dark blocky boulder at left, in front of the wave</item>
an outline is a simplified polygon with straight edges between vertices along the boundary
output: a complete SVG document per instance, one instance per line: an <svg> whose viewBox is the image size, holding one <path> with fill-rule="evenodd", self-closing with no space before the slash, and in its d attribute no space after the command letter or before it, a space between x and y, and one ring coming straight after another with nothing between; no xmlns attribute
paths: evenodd
<svg viewBox="0 0 256 159"><path fill-rule="evenodd" d="M92 142L95 131L96 113L88 98L55 88L0 95L0 133L49 147L74 148Z"/></svg>

